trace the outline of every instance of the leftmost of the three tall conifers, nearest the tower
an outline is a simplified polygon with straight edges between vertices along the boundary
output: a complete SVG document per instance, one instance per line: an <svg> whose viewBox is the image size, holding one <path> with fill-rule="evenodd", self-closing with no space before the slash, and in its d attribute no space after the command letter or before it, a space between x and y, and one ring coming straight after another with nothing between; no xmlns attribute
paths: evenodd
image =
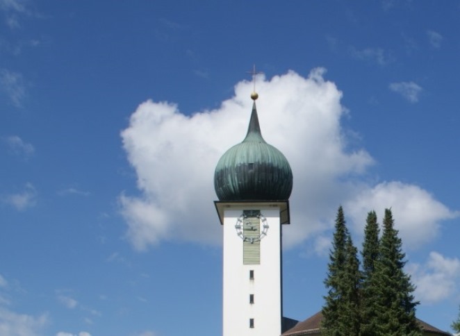
<svg viewBox="0 0 460 336"><path fill-rule="evenodd" d="M359 335L358 291L361 274L356 254L340 206L325 280L328 293L322 308L324 335Z"/></svg>

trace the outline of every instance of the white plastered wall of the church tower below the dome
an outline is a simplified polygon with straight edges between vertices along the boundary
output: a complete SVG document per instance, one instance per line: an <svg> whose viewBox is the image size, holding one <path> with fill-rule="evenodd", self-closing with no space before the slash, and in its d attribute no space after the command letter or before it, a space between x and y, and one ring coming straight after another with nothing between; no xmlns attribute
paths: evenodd
<svg viewBox="0 0 460 336"><path fill-rule="evenodd" d="M243 210L261 210L268 233L260 244L260 264L243 264L243 239L236 221ZM280 208L246 203L224 210L223 336L281 335L281 221ZM254 279L249 278L254 271ZM254 294L254 303L249 295ZM254 319L254 328L249 321Z"/></svg>

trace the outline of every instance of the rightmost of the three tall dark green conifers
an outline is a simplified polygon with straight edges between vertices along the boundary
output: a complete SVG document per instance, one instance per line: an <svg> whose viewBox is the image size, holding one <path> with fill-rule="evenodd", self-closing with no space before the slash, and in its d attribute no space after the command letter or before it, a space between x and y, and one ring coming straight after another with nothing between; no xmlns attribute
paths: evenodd
<svg viewBox="0 0 460 336"><path fill-rule="evenodd" d="M394 228L391 210L385 210L379 258L375 262L372 286L378 289L373 335L422 335L416 321L416 305L411 278L404 273L402 242Z"/></svg>

